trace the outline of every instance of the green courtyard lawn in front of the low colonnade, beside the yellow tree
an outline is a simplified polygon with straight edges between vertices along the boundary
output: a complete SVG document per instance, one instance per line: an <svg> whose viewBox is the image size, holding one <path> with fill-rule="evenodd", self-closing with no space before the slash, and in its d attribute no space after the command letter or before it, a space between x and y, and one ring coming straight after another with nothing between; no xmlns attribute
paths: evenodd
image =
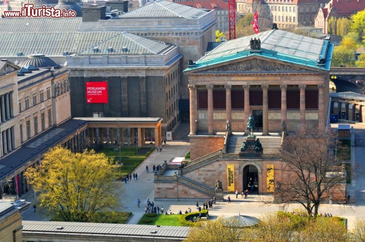
<svg viewBox="0 0 365 242"><path fill-rule="evenodd" d="M119 160L121 160L123 166L115 169L112 176L114 178L123 178L136 169L154 149L154 147L138 147L137 156L136 147L122 147L121 157L119 157L119 147L104 147L100 152L104 153L111 160L112 164L119 164Z"/></svg>

